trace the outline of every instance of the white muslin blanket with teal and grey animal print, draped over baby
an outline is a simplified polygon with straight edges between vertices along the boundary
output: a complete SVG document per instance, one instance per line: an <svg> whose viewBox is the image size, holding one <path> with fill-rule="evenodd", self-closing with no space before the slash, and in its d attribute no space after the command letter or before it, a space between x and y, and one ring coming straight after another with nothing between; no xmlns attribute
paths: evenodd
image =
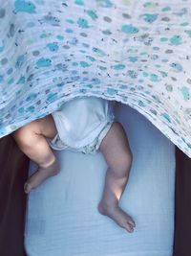
<svg viewBox="0 0 191 256"><path fill-rule="evenodd" d="M96 96L137 109L191 157L191 0L0 3L1 137Z"/></svg>

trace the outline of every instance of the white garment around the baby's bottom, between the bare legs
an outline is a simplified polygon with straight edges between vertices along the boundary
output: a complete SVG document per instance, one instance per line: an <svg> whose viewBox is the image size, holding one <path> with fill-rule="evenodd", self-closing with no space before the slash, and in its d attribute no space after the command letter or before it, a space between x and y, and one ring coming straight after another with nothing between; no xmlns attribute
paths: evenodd
<svg viewBox="0 0 191 256"><path fill-rule="evenodd" d="M57 134L49 140L53 150L95 153L115 121L113 102L96 98L75 98L53 112Z"/></svg>

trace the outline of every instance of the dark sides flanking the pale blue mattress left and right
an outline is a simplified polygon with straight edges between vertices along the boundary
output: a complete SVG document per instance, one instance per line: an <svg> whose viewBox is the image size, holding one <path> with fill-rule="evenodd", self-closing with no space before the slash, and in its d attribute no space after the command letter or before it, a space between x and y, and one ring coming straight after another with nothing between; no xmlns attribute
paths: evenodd
<svg viewBox="0 0 191 256"><path fill-rule="evenodd" d="M172 256L191 256L191 159L176 149L175 239ZM29 159L11 135L0 139L0 256L26 256L24 226ZM56 256L56 255L55 255Z"/></svg>

